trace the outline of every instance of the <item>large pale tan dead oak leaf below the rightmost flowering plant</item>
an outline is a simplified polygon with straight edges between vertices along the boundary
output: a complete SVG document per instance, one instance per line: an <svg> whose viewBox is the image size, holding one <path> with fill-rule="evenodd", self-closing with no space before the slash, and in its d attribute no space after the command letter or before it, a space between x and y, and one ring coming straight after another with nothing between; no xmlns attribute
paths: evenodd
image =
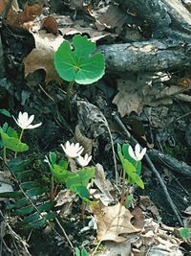
<svg viewBox="0 0 191 256"><path fill-rule="evenodd" d="M101 203L90 207L97 224L97 239L99 241L127 241L128 234L137 233L140 229L131 223L133 215L120 203L114 206L103 206Z"/></svg>

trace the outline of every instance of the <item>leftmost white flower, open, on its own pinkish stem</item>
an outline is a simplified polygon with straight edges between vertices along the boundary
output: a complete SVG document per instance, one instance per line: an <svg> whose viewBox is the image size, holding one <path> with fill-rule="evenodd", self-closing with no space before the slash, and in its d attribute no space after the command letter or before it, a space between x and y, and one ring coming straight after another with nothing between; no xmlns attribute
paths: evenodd
<svg viewBox="0 0 191 256"><path fill-rule="evenodd" d="M15 119L14 116L12 116L16 124L22 128L22 129L27 129L27 128L38 128L42 125L42 123L38 123L36 125L32 125L32 121L34 119L34 115L30 116L28 115L27 112L24 112L23 114L19 112L18 118Z"/></svg>

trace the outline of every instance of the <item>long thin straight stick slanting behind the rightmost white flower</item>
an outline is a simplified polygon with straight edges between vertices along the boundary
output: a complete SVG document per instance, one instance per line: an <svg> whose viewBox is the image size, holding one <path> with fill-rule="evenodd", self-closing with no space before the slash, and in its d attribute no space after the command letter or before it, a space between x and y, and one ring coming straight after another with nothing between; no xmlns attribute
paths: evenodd
<svg viewBox="0 0 191 256"><path fill-rule="evenodd" d="M131 139L134 144L137 144L138 141L129 133L129 131L127 130L127 128L125 128L125 126L123 125L122 121L119 119L119 117L117 116L117 114L114 113L113 116L114 116L114 120L117 122L117 125L118 125L120 128L122 128L122 130L124 131L124 133L126 133L127 137L128 137L129 139ZM148 154L145 153L144 156L145 156L145 159L146 159L146 161L147 161L147 164L148 164L149 167L151 168L151 171L158 177L158 179L159 179L159 184L160 184L160 186L161 186L161 188L162 188L162 190L163 190L163 192L164 192L164 194L165 194L165 196L166 196L166 198L167 198L167 201L168 201L169 204L170 204L170 207L171 207L172 211L174 212L175 216L177 217L177 220L180 222L180 225L183 226L183 222L181 221L180 214L179 214L179 212L178 212L178 210L177 210L177 207L176 207L176 205L174 204L172 198L170 197L170 195L169 195L169 193L168 193L168 190L167 190L167 188L166 188L166 185L164 184L164 182L163 182L161 176L159 175L158 170L155 168L155 166L154 166L154 164L152 163L152 161L151 161L150 157L148 156Z"/></svg>

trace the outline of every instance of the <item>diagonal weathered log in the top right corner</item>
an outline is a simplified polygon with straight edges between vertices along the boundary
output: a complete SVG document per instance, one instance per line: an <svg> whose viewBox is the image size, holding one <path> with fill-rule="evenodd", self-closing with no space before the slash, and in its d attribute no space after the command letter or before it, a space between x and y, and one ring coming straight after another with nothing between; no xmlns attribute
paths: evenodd
<svg viewBox="0 0 191 256"><path fill-rule="evenodd" d="M168 35L169 30L191 34L191 13L179 0L125 0L118 1L138 17L146 20L153 32Z"/></svg>

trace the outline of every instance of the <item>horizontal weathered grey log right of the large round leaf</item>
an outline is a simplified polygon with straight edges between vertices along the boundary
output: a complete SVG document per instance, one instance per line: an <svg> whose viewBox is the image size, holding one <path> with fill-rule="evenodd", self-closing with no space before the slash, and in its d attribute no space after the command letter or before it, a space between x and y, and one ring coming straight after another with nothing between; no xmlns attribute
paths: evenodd
<svg viewBox="0 0 191 256"><path fill-rule="evenodd" d="M190 67L191 43L152 39L142 42L102 45L108 73L176 70Z"/></svg>

